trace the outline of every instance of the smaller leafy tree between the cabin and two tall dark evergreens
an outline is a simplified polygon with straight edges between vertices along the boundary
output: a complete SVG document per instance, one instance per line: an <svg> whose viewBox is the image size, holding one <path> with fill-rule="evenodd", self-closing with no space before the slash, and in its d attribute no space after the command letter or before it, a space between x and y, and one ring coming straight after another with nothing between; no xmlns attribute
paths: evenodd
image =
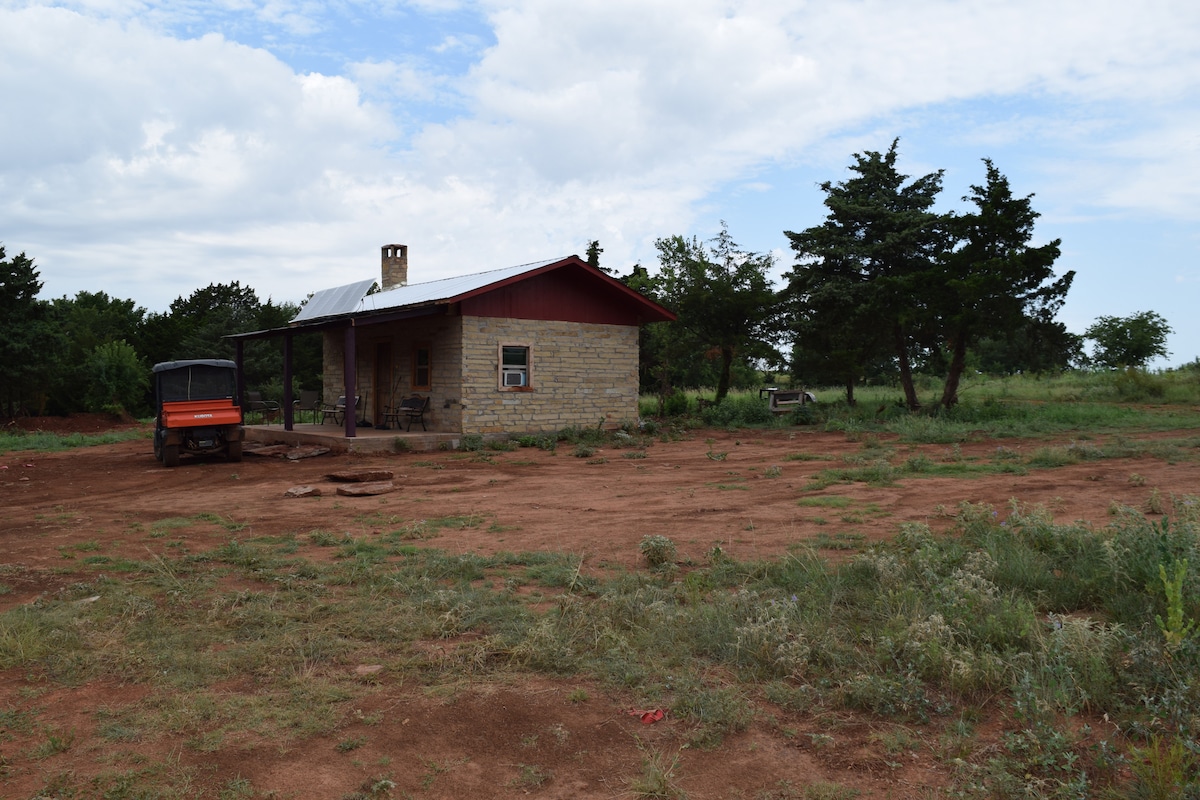
<svg viewBox="0 0 1200 800"><path fill-rule="evenodd" d="M724 224L712 247L683 236L660 239L655 247L660 270L652 296L677 314L662 329L670 339L664 349L715 362L716 402L730 391L736 360L780 360L772 343L778 297L769 254L739 249Z"/></svg>

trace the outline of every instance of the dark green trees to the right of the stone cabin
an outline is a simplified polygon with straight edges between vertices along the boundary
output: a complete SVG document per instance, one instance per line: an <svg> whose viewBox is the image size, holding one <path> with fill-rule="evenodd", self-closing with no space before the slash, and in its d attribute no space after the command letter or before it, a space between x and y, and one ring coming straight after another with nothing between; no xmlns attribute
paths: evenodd
<svg viewBox="0 0 1200 800"><path fill-rule="evenodd" d="M1154 312L1102 317L1082 335L1055 319L1075 273L1055 273L1061 241L1033 243L1032 196L1014 196L990 160L968 210L937 213L943 170L900 174L898 144L854 154L851 178L820 185L828 213L784 231L796 260L780 289L773 258L742 251L724 225L708 246L658 240L658 272L622 278L678 314L642 331L643 391L715 386L719 402L766 371L841 386L848 403L864 381L894 383L917 410L918 373L942 379L936 405L949 408L968 371L1144 368L1169 355Z"/></svg>

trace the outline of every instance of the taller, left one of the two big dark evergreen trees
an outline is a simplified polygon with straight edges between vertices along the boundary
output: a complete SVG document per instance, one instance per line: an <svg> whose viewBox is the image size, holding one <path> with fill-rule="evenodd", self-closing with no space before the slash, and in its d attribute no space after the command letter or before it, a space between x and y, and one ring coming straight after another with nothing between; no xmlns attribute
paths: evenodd
<svg viewBox="0 0 1200 800"><path fill-rule="evenodd" d="M932 319L924 293L946 245L942 217L931 211L942 172L910 181L896 170L898 144L854 154L853 178L821 185L824 223L785 231L797 255L787 295L804 309L796 348L817 349L815 361L841 378L848 401L856 372L889 353L905 403L917 409L912 350Z"/></svg>

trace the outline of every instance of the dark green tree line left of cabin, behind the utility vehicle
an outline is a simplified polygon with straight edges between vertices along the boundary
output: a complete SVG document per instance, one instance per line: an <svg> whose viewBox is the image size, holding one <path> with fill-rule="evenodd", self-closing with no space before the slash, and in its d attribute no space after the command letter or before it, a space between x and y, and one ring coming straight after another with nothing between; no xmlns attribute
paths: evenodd
<svg viewBox="0 0 1200 800"><path fill-rule="evenodd" d="M223 336L281 327L294 303L265 302L239 282L214 283L149 313L104 291L42 300L36 265L0 246L0 415L103 411L145 416L152 408L150 367L180 359L233 359ZM247 385L282 395L282 342L244 347ZM293 344L296 389L320 387L320 339Z"/></svg>

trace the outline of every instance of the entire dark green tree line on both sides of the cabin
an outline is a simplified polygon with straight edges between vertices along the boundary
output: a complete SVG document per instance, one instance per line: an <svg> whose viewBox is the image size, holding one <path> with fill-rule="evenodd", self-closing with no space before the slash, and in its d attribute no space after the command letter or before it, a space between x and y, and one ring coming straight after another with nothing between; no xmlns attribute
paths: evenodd
<svg viewBox="0 0 1200 800"><path fill-rule="evenodd" d="M1100 317L1082 335L1055 319L1075 273L1055 273L1061 241L1033 243L1032 196L1014 196L991 161L962 198L968 210L938 213L943 172L900 174L898 144L854 154L848 179L820 185L827 216L785 231L796 260L780 288L774 258L742 249L724 224L707 242L660 239L654 272L616 276L678 317L642 327L642 392L715 387L719 402L781 377L841 386L853 403L856 386L894 383L916 410L916 374L942 380L936 404L948 408L968 371L1142 368L1169 355L1171 329L1154 312ZM590 242L587 260L611 273L602 252ZM10 417L143 414L151 365L233 357L223 336L281 327L299 311L238 282L197 289L164 313L103 291L41 300L41 288L34 260L0 246L0 413ZM295 338L294 390L320 389L320 357L318 335ZM247 385L282 396L282 341L246 342L245 372Z"/></svg>

